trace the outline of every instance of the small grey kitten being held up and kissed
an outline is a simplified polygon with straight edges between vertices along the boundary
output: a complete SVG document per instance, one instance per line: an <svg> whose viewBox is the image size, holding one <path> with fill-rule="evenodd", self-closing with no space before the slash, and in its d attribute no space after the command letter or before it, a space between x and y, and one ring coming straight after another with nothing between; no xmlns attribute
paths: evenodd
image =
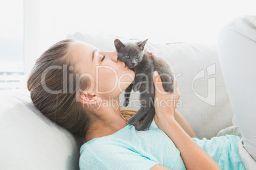
<svg viewBox="0 0 256 170"><path fill-rule="evenodd" d="M138 66L134 81L124 91L124 107L129 104L129 98L132 89L140 92L139 100L141 107L129 120L128 124L138 122L136 129L142 131L148 129L155 115L154 99L155 86L153 84L153 72L159 72L162 80L162 86L166 92L173 93L173 70L162 58L153 58L144 52L144 46L148 39L140 42L122 43L115 39L115 48L118 52L118 60L124 62L129 69L134 70Z"/></svg>

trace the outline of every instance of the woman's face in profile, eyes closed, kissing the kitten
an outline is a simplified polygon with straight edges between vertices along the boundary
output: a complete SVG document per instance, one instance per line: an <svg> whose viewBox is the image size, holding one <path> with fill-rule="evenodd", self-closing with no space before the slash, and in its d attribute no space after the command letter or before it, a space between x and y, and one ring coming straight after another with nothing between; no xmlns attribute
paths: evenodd
<svg viewBox="0 0 256 170"><path fill-rule="evenodd" d="M116 98L134 80L134 72L117 60L117 52L104 52L85 42L75 41L70 47L71 62L80 77L90 79L87 91L103 99Z"/></svg>

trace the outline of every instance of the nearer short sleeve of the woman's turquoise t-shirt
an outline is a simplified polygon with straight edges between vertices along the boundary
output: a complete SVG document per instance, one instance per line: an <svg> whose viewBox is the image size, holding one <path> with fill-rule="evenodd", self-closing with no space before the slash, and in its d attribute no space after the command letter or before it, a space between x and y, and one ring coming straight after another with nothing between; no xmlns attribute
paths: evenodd
<svg viewBox="0 0 256 170"><path fill-rule="evenodd" d="M158 164L134 150L116 145L86 147L80 155L83 169L150 169Z"/></svg>

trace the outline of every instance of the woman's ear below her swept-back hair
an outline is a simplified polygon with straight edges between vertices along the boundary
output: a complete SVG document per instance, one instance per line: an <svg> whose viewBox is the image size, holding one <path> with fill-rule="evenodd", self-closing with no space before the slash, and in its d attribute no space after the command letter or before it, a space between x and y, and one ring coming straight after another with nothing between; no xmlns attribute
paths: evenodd
<svg viewBox="0 0 256 170"><path fill-rule="evenodd" d="M101 97L94 92L87 93L87 91L83 91L80 95L80 103L83 105L96 105L101 103L101 100Z"/></svg>

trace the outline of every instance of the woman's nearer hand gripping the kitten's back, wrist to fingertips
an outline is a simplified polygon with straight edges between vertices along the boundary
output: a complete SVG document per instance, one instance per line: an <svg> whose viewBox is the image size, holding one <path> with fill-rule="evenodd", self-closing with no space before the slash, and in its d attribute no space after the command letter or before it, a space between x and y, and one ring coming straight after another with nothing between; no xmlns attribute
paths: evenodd
<svg viewBox="0 0 256 170"><path fill-rule="evenodd" d="M160 75L153 72L153 82L155 84L155 124L164 131L169 119L174 120L174 112L178 101L180 100L180 91L178 89L178 80L174 79L173 93L167 93L162 87Z"/></svg>

